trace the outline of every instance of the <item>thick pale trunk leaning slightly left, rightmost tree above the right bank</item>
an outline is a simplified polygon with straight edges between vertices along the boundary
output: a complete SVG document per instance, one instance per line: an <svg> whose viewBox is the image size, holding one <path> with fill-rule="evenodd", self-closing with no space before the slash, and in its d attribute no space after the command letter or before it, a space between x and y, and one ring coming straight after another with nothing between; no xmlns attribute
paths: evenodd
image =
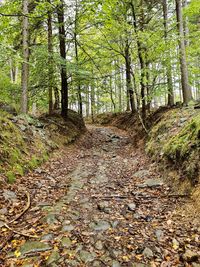
<svg viewBox="0 0 200 267"><path fill-rule="evenodd" d="M181 85L183 92L183 103L187 105L192 100L192 91L189 85L188 68L186 61L184 29L183 29L183 15L181 0L176 0L176 17L179 33L179 53L180 53L180 67L181 67Z"/></svg>

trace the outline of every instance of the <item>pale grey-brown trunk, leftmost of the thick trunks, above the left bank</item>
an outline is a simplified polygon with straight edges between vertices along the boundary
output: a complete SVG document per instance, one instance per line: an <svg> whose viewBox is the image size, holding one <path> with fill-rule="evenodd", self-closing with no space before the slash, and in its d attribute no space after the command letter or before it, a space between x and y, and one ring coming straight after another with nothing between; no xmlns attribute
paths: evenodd
<svg viewBox="0 0 200 267"><path fill-rule="evenodd" d="M28 79L29 79L29 19L28 19L28 0L23 0L23 21L22 21L22 95L21 95L21 112L28 112Z"/></svg>

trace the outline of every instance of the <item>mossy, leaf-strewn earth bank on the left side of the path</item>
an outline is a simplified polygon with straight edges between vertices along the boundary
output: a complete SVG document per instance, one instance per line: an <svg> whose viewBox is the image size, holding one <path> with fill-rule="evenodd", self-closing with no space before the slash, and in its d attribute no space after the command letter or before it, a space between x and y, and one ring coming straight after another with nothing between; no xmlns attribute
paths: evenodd
<svg viewBox="0 0 200 267"><path fill-rule="evenodd" d="M48 160L52 150L75 140L85 126L77 113L69 114L67 121L61 116L45 121L0 110L1 176L13 183L18 176Z"/></svg>

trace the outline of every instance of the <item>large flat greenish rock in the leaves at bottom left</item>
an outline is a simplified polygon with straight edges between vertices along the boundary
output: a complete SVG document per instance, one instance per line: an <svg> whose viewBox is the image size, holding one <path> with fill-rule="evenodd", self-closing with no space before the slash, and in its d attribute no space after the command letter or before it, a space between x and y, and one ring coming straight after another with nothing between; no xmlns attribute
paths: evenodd
<svg viewBox="0 0 200 267"><path fill-rule="evenodd" d="M20 252L22 255L26 255L29 253L47 251L50 249L51 247L46 243L38 241L27 241L24 245L21 246Z"/></svg>

